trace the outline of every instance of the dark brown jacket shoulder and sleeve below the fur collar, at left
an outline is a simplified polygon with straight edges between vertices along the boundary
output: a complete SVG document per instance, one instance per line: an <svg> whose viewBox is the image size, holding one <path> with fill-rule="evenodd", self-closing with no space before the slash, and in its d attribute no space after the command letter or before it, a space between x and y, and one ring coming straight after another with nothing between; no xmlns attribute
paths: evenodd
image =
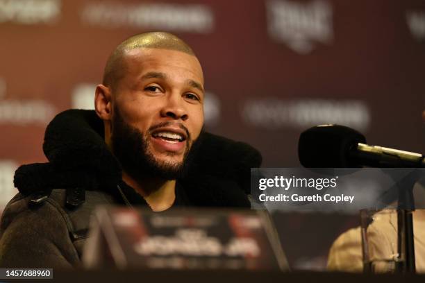
<svg viewBox="0 0 425 283"><path fill-rule="evenodd" d="M0 266L78 266L94 207L112 199L101 191L86 191L85 202L70 208L66 189L53 189L41 203L33 198L17 194L3 211Z"/></svg>

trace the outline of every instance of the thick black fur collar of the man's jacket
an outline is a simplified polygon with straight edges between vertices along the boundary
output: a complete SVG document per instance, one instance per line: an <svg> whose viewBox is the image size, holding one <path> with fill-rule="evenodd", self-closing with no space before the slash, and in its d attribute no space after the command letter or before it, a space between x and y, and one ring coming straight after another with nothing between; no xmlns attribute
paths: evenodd
<svg viewBox="0 0 425 283"><path fill-rule="evenodd" d="M42 189L83 187L115 189L121 180L119 162L103 139L103 122L94 110L67 110L58 114L44 136L48 163L20 166L15 187L22 194ZM200 205L219 205L249 194L250 168L261 155L248 144L202 132L202 142L182 180ZM234 189L238 187L239 189ZM233 200L226 200L231 198Z"/></svg>

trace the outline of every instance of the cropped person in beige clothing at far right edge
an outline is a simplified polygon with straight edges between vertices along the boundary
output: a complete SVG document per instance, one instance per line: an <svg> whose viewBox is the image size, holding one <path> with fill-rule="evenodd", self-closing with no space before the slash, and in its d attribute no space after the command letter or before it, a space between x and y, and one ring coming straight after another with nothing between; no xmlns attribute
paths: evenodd
<svg viewBox="0 0 425 283"><path fill-rule="evenodd" d="M425 110L422 112L425 123ZM415 268L417 273L425 273L425 179L420 179L413 188L415 207L413 212L413 232L415 241ZM374 263L374 272L394 272L394 259L398 255L397 212L383 209L373 216L367 228L369 260ZM342 233L336 239L328 255L329 271L363 272L362 237L360 227Z"/></svg>

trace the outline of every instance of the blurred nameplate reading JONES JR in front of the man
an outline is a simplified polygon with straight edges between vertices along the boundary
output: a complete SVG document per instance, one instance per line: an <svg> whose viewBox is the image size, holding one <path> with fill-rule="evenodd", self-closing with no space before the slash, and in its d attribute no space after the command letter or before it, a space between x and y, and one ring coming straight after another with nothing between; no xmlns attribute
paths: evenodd
<svg viewBox="0 0 425 283"><path fill-rule="evenodd" d="M101 207L92 227L83 256L88 268L288 268L263 211Z"/></svg>

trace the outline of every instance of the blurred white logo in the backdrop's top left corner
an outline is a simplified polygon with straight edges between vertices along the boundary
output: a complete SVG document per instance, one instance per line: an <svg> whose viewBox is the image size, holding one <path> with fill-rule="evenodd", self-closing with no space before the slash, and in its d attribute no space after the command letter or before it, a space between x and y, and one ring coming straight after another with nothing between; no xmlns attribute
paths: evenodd
<svg viewBox="0 0 425 283"><path fill-rule="evenodd" d="M0 0L0 23L51 24L60 15L60 0Z"/></svg>

